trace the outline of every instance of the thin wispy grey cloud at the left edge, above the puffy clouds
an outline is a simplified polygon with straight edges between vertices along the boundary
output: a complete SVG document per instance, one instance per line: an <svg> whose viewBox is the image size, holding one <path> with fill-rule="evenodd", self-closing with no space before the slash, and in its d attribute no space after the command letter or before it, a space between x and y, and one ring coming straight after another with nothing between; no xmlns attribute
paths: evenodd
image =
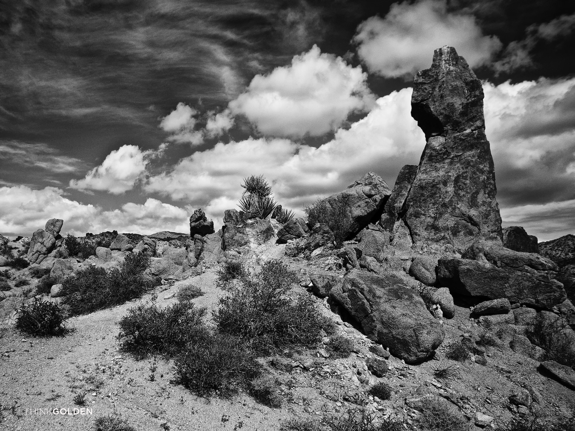
<svg viewBox="0 0 575 431"><path fill-rule="evenodd" d="M64 156L46 144L20 141L0 141L0 161L12 166L39 168L52 174L70 174L85 165L82 160Z"/></svg>

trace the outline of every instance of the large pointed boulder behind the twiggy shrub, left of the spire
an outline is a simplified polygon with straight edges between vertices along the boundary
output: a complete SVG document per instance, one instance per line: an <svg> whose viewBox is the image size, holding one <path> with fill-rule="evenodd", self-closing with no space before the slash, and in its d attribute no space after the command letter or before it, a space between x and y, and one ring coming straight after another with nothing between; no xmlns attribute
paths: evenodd
<svg viewBox="0 0 575 431"><path fill-rule="evenodd" d="M343 236L351 238L375 217L377 219L381 217L381 211L391 193L388 184L381 176L367 172L346 190L326 198L324 203L332 209L336 209L340 202L346 203L351 223Z"/></svg>

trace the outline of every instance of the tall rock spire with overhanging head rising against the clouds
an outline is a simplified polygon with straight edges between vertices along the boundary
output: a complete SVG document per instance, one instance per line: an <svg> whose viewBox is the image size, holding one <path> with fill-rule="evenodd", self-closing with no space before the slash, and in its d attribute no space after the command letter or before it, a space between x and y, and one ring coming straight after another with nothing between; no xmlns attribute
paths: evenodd
<svg viewBox="0 0 575 431"><path fill-rule="evenodd" d="M481 81L452 47L436 49L431 68L417 73L411 115L427 144L388 230L407 229L413 243L450 244L460 253L478 240L501 243L483 97Z"/></svg>

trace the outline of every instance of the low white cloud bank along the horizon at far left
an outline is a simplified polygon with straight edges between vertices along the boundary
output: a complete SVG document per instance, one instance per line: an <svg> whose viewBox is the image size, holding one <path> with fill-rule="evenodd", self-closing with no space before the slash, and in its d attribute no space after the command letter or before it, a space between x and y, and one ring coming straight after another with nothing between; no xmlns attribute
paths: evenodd
<svg viewBox="0 0 575 431"><path fill-rule="evenodd" d="M56 187L33 190L26 186L0 187L0 233L32 236L50 218L62 218L62 233L83 235L106 230L152 234L161 230L187 232L190 210L148 198L144 204L125 203L121 209L72 201Z"/></svg>

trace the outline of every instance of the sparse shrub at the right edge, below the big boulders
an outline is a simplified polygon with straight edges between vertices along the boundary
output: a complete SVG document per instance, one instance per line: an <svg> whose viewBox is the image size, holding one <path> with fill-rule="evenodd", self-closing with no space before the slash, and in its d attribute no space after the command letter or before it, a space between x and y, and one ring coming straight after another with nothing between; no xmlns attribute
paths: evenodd
<svg viewBox="0 0 575 431"><path fill-rule="evenodd" d="M528 330L527 337L531 343L545 349L546 360L553 360L568 367L575 367L574 347L564 332L568 328L568 323L562 319L549 322L538 317L532 328Z"/></svg>

